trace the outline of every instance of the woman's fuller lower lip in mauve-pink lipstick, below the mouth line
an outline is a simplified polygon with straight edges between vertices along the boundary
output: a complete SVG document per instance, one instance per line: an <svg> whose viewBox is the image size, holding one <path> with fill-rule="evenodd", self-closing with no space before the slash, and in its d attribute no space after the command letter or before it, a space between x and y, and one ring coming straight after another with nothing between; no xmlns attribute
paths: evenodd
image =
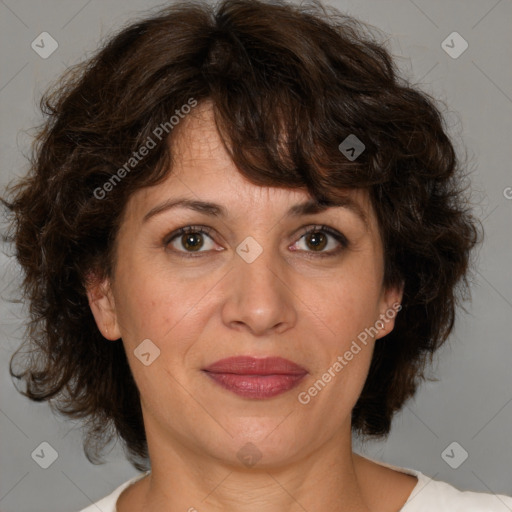
<svg viewBox="0 0 512 512"><path fill-rule="evenodd" d="M300 375L238 375L205 372L223 388L244 398L272 398L294 388L305 377Z"/></svg>

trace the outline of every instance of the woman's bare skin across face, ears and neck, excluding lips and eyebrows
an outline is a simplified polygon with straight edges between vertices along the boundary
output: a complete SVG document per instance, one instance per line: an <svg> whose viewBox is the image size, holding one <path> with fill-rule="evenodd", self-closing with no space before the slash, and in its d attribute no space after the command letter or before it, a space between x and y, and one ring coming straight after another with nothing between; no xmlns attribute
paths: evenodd
<svg viewBox="0 0 512 512"><path fill-rule="evenodd" d="M131 196L113 275L88 288L102 334L117 343L122 338L152 466L150 476L121 494L119 512L399 510L416 477L354 454L350 430L374 343L394 321L308 404L297 399L401 300L401 289L382 286L383 249L367 195L347 191L366 212L368 227L343 207L286 217L288 208L310 199L307 191L247 181L229 159L208 103L181 123L173 172ZM228 216L181 208L143 220L182 196L219 203ZM322 232L327 245L315 252L303 233L316 224L343 233L349 247L318 256L340 244ZM196 235L203 243L198 258L186 258L186 235L166 246L167 235L190 225L213 230ZM236 252L248 236L263 249L252 263ZM134 355L145 339L160 350L148 366ZM281 356L308 375L271 399L241 398L201 371L234 355ZM261 453L251 467L237 457L249 442Z"/></svg>

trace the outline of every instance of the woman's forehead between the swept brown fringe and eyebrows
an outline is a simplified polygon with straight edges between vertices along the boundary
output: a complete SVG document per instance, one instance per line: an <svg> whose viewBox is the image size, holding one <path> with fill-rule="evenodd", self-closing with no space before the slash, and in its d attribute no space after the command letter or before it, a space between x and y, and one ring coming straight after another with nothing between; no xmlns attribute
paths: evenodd
<svg viewBox="0 0 512 512"><path fill-rule="evenodd" d="M176 128L179 128L176 130ZM172 172L154 187L135 196L137 217L146 220L159 209L177 206L212 216L240 217L251 211L274 211L276 215L298 217L322 211L350 211L373 230L375 219L364 189L345 189L336 205L319 205L304 188L260 186L250 182L235 166L224 147L211 104L198 105L175 128L172 147ZM132 201L133 203L133 201ZM176 204L179 203L179 204Z"/></svg>

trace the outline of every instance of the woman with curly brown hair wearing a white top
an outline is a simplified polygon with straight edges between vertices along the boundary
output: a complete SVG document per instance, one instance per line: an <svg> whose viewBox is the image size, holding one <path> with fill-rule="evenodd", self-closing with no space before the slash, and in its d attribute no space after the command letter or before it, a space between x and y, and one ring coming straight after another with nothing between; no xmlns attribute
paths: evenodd
<svg viewBox="0 0 512 512"><path fill-rule="evenodd" d="M114 427L145 470L85 511L512 507L352 451L414 395L479 241L441 114L364 27L175 4L44 109L11 374L87 418L90 460Z"/></svg>

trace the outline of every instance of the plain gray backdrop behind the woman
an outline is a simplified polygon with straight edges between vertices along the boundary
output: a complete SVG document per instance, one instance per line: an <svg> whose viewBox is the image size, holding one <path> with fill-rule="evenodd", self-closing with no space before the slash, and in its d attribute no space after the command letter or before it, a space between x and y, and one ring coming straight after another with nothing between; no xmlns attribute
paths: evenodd
<svg viewBox="0 0 512 512"><path fill-rule="evenodd" d="M347 13L390 34L403 73L448 107L458 145L469 150L476 213L486 238L478 252L468 313L460 311L454 333L432 368L439 382L425 384L394 420L385 442L356 451L412 467L461 489L512 495L512 67L510 0L331 0ZM26 172L29 129L40 121L41 92L67 66L134 17L162 3L150 0L0 1L0 186ZM47 59L32 41L49 32L58 49ZM468 42L458 58L441 43L453 31ZM455 44L455 43L454 43ZM458 44L458 43L457 43ZM508 192L509 193L508 193ZM508 196L508 197L507 197ZM25 311L6 299L16 295L19 269L1 256L0 292L0 510L70 512L109 494L137 472L119 444L102 466L82 453L77 424L54 417L47 404L19 395L8 359L23 335ZM58 452L48 468L31 453L42 442ZM456 441L469 457L452 469L441 454ZM460 448L454 451L459 457Z"/></svg>

